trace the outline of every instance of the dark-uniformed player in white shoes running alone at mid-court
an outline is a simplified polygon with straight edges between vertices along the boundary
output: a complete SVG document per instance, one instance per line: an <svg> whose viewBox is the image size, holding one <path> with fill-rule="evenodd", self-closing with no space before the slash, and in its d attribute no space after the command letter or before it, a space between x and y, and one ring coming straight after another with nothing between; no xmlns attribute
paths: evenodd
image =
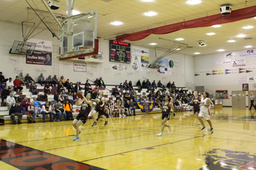
<svg viewBox="0 0 256 170"><path fill-rule="evenodd" d="M157 136L163 136L163 129L164 127L169 127L169 132L171 132L171 125L166 125L166 121L170 119L170 111L171 108L174 110L173 107L173 101L170 96L165 96L164 98L165 102L163 103L163 107L158 103L158 106L163 109L162 111L162 128L160 130L160 133L157 134Z"/></svg>

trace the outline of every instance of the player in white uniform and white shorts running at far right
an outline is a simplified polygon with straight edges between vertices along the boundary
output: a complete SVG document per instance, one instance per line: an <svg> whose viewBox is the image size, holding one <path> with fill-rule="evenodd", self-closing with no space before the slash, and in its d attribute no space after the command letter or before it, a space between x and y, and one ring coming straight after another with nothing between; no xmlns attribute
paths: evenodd
<svg viewBox="0 0 256 170"><path fill-rule="evenodd" d="M200 130L203 130L205 128L204 122L202 120L202 118L204 118L210 125L210 128L208 130L212 131L213 126L212 126L212 122L210 121L210 117L211 117L210 99L208 97L209 97L209 93L204 92L203 98L201 99L201 101L198 101L198 103L200 103L200 112L198 114L198 119L201 125L203 125L203 127Z"/></svg>

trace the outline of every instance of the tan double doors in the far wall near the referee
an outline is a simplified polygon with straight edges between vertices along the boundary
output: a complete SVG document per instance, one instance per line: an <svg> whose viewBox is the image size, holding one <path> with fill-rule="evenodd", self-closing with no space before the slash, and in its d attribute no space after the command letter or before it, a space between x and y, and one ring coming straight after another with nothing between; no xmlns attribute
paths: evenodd
<svg viewBox="0 0 256 170"><path fill-rule="evenodd" d="M245 108L245 100L245 91L232 91L232 107Z"/></svg>

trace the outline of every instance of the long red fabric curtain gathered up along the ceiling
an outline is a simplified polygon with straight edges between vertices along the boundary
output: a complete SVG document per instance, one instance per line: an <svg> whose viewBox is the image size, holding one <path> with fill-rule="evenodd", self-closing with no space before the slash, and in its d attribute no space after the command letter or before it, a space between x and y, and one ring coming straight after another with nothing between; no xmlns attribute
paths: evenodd
<svg viewBox="0 0 256 170"><path fill-rule="evenodd" d="M178 30L182 30L182 29L213 26L217 24L224 24L224 23L239 21L242 19L248 19L255 16L256 16L256 6L250 6L250 7L242 8L239 10L234 10L232 11L231 14L228 14L228 15L215 14L208 17L192 19L185 22L178 22L175 24L167 25L167 26L160 26L157 28L149 29L149 30L139 31L136 33L122 34L122 35L116 36L116 40L117 41L123 41L123 40L138 41L143 38L146 38L150 34L168 34Z"/></svg>

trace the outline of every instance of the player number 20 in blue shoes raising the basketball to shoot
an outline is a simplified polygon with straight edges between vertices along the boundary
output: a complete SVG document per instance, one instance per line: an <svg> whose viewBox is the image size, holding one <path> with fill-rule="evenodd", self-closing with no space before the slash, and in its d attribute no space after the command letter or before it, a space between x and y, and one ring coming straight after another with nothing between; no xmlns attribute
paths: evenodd
<svg viewBox="0 0 256 170"><path fill-rule="evenodd" d="M76 106L81 106L80 112L77 115L77 117L73 120L72 126L76 129L76 138L73 139L74 141L80 140L79 134L81 133L81 130L79 130L79 126L83 123L85 124L88 115L91 110L92 101L90 101L92 95L91 93L88 93L86 98L83 93L81 93L82 97L84 98L84 101L79 103L80 97L78 97Z"/></svg>

